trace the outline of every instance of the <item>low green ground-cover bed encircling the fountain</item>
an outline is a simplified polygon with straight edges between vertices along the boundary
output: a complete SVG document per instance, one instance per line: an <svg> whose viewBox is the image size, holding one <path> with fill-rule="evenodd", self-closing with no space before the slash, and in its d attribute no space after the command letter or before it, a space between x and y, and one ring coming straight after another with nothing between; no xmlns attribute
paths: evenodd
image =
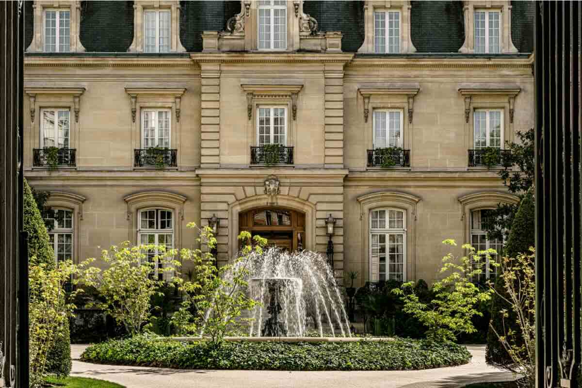
<svg viewBox="0 0 582 388"><path fill-rule="evenodd" d="M179 369L264 369L278 371L390 371L462 365L464 346L427 340L352 343L155 341L151 337L109 340L88 347L83 361Z"/></svg>

